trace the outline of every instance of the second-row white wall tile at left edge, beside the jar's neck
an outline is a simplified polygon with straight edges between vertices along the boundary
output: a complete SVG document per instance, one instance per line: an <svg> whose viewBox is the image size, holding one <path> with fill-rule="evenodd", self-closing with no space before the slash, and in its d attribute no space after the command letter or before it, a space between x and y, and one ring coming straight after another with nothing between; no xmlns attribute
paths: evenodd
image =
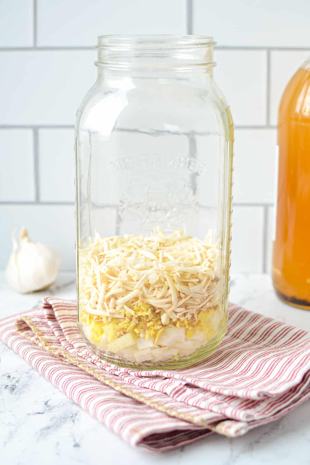
<svg viewBox="0 0 310 465"><path fill-rule="evenodd" d="M95 58L91 50L0 52L0 124L74 125Z"/></svg>

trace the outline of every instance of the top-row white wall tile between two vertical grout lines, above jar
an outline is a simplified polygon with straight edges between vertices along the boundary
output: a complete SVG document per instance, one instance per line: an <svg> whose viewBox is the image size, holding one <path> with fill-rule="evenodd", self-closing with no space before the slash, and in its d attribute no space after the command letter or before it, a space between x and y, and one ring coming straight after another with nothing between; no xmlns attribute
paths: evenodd
<svg viewBox="0 0 310 465"><path fill-rule="evenodd" d="M104 34L185 34L185 0L37 0L39 46L94 46Z"/></svg>

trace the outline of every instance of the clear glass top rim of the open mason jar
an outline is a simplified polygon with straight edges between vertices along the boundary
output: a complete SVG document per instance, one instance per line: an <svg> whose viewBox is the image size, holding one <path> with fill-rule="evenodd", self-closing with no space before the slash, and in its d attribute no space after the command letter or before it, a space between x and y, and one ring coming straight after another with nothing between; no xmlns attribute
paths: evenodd
<svg viewBox="0 0 310 465"><path fill-rule="evenodd" d="M99 35L97 49L110 50L165 50L173 49L197 49L201 47L213 47L217 43L212 36L204 35L175 35L175 34L114 34Z"/></svg>

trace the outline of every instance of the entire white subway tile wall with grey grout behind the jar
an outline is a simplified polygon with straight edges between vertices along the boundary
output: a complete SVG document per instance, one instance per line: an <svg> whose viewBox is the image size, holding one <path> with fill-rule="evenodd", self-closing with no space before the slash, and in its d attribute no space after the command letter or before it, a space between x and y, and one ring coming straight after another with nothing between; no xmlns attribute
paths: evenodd
<svg viewBox="0 0 310 465"><path fill-rule="evenodd" d="M277 107L310 55L309 16L304 0L2 0L0 269L14 226L75 267L74 119L97 35L195 33L218 42L215 80L236 126L231 269L270 272Z"/></svg>

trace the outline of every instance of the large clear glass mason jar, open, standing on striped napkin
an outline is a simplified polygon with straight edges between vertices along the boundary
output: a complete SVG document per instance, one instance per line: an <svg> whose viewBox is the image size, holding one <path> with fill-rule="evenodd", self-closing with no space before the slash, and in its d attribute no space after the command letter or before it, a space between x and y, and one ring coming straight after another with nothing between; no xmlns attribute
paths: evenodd
<svg viewBox="0 0 310 465"><path fill-rule="evenodd" d="M117 365L188 366L226 332L233 122L214 45L98 38L76 119L79 329Z"/></svg>

